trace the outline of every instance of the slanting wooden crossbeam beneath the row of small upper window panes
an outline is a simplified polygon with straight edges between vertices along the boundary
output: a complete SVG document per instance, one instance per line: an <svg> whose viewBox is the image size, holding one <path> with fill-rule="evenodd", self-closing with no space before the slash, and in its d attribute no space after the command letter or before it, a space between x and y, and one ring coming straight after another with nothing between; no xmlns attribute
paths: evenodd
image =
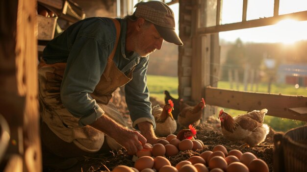
<svg viewBox="0 0 307 172"><path fill-rule="evenodd" d="M232 24L203 27L203 28L199 28L197 30L197 33L207 34L207 33L223 32L223 31L230 31L230 30L237 30L237 29L244 29L244 28L260 27L260 26L266 26L266 25L275 25L284 19L307 21L307 11L301 11L301 12L267 17L267 18L260 18L260 19L243 21L243 22L232 23Z"/></svg>

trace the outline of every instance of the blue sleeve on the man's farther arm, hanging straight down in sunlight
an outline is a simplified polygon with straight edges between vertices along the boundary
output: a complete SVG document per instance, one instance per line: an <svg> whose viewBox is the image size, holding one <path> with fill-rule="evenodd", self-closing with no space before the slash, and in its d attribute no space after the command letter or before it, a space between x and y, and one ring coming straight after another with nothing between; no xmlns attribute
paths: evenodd
<svg viewBox="0 0 307 172"><path fill-rule="evenodd" d="M134 128L138 129L137 123L149 122L155 128L152 115L151 102L149 101L149 90L147 87L146 72L149 57L142 57L135 67L132 80L125 86L126 102L130 112L130 118Z"/></svg>

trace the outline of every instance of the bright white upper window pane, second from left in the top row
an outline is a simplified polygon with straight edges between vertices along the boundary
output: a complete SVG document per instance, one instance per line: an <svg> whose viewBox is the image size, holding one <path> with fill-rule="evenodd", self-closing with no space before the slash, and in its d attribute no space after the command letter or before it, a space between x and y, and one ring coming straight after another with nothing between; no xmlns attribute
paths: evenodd
<svg viewBox="0 0 307 172"><path fill-rule="evenodd" d="M243 0L223 0L222 25L242 21Z"/></svg>

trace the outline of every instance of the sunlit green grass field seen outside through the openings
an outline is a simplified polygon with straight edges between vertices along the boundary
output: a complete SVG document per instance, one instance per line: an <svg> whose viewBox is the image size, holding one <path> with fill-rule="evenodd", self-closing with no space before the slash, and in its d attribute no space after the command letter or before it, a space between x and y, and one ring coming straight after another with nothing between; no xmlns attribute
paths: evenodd
<svg viewBox="0 0 307 172"><path fill-rule="evenodd" d="M174 98L178 98L178 78L170 77L170 76L157 76L157 75L147 75L148 80L148 88L150 91L151 97L156 97L160 101L164 101L163 91L167 90L171 93ZM218 87L230 89L230 83L226 81L219 81ZM236 88L236 85L233 85ZM243 90L243 84L239 84L239 90ZM248 91L252 91L250 86L248 87ZM256 91L256 86L254 85L253 91ZM261 83L258 85L258 92L268 92L268 85L265 83ZM295 88L293 85L286 84L272 84L271 85L271 93L282 94L282 95L302 95L307 96L307 88L300 87ZM232 116L236 116L242 113L246 113L245 111L239 111L234 109L224 108L225 111L229 112ZM298 126L302 126L306 124L302 121L289 120L283 118L277 118L272 116L266 116L264 119L264 123L270 125L276 131L287 131L291 128L295 128Z"/></svg>

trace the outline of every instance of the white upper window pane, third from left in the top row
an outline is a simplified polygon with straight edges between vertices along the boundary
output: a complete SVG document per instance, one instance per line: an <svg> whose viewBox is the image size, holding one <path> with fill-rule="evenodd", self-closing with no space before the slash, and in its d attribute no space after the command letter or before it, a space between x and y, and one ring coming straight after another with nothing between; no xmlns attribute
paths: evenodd
<svg viewBox="0 0 307 172"><path fill-rule="evenodd" d="M248 0L246 20L272 17L274 14L274 0Z"/></svg>

